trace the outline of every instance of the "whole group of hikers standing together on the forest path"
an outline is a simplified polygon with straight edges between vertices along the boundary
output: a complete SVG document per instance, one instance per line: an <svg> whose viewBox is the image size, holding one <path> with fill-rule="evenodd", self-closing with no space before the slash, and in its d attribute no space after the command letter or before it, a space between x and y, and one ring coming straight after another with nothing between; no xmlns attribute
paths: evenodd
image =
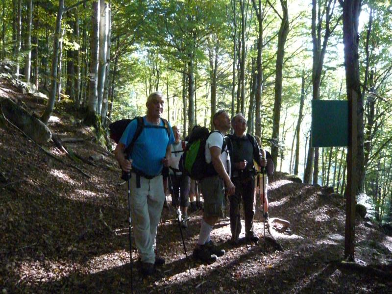
<svg viewBox="0 0 392 294"><path fill-rule="evenodd" d="M155 254L155 238L166 199L167 187L172 194L172 205L177 209L182 227L187 227L187 210L196 209L196 181L180 171L181 155L187 142L180 139L180 130L162 119L164 97L160 92L147 98L147 114L132 120L126 126L115 149L115 156L128 178L135 244L139 253L140 270L152 275L156 266L165 264L165 259ZM140 130L140 124L143 125ZM205 141L204 175L198 179L204 199L203 218L193 256L202 262L215 262L225 251L211 240L211 231L224 217L224 201L230 201L230 243L238 244L241 233L241 198L245 214L245 240L258 242L253 231L256 185L264 185L264 218L268 219L266 196L267 176L257 182L257 172L265 171L266 154L260 148L260 139L246 133L246 120L239 113L229 118L224 110L213 116L214 131ZM227 134L232 128L233 134ZM192 137L192 134L191 136ZM169 172L163 172L169 168ZM258 190L259 193L261 189ZM191 204L189 201L191 198ZM198 203L198 205L200 205ZM185 246L185 245L184 245Z"/></svg>

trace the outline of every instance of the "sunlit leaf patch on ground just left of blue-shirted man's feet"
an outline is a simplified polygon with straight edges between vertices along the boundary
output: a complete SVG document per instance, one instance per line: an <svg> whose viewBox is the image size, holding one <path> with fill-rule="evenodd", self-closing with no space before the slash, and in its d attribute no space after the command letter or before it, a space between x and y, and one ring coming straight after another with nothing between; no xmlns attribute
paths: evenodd
<svg viewBox="0 0 392 294"><path fill-rule="evenodd" d="M136 253L133 253L132 258L135 259L136 255ZM129 263L129 252L121 250L91 258L87 261L86 268L90 274L95 274L100 271L122 267L127 263Z"/></svg>

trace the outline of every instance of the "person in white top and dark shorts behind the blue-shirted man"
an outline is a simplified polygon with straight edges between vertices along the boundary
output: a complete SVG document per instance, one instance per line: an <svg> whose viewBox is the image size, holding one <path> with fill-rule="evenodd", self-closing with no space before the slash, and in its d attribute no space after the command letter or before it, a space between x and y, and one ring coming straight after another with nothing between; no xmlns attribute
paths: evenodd
<svg viewBox="0 0 392 294"><path fill-rule="evenodd" d="M172 161L170 164L170 186L172 194L172 204L177 209L177 213L182 216L181 226L188 227L187 210L189 206L189 189L191 185L191 178L182 174L178 169L182 153L184 153L186 142L180 140L180 131L174 125L172 126L174 134L174 143L171 145Z"/></svg>

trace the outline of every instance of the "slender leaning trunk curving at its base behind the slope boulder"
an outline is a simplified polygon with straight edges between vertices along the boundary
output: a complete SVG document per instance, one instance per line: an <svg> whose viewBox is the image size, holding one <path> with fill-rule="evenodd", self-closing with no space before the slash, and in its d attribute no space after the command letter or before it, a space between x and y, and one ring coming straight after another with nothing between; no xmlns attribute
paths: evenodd
<svg viewBox="0 0 392 294"><path fill-rule="evenodd" d="M50 115L54 108L54 102L56 100L57 93L57 66L58 66L58 55L59 55L59 47L60 47L60 33L61 33L61 19L63 18L64 13L64 0L59 0L57 17L56 17L56 30L54 32L53 37L53 57L52 57L52 66L50 71L50 93L47 107L45 109L44 114L41 117L41 120L44 123L48 123Z"/></svg>

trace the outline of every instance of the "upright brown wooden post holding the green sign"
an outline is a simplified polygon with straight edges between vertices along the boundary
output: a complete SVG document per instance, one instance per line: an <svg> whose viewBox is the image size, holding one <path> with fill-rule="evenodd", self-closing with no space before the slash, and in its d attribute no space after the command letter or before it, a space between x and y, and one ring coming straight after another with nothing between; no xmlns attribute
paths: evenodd
<svg viewBox="0 0 392 294"><path fill-rule="evenodd" d="M347 186L346 223L344 238L344 258L354 261L355 242L355 193L357 191L357 93L352 90L348 97L348 150L347 150Z"/></svg>

